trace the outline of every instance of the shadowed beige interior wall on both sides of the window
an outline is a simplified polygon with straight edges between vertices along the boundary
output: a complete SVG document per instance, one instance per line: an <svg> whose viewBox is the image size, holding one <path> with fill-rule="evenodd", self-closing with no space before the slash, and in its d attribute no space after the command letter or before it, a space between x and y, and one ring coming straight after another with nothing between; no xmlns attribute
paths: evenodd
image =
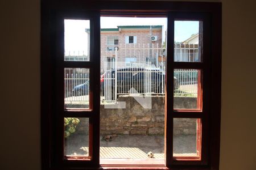
<svg viewBox="0 0 256 170"><path fill-rule="evenodd" d="M253 0L217 2L222 2L220 169L253 170L256 5ZM1 1L0 8L0 169L36 170L40 169L40 1Z"/></svg>

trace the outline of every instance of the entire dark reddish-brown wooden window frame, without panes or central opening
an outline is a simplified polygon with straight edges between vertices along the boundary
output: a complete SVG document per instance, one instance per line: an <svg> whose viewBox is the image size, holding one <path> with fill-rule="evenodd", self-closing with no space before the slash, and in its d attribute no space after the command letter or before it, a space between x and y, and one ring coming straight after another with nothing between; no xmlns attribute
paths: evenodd
<svg viewBox="0 0 256 170"><path fill-rule="evenodd" d="M41 33L41 128L42 169L108 168L108 169L218 169L220 158L221 105L221 3L159 1L47 1L42 0ZM100 153L100 16L168 16L165 165L104 165ZM64 62L64 18L90 19L90 61ZM62 22L61 22L62 20ZM203 21L203 62L174 62L174 20ZM65 111L64 67L90 69L90 106L84 111ZM203 70L200 79L202 109L174 109L172 83L174 69ZM205 76L207 75L207 76ZM96 79L96 78L99 79ZM82 114L81 114L82 113ZM86 160L64 159L63 117L89 118L89 155ZM172 156L174 118L201 118L200 158ZM101 166L101 167L100 167Z"/></svg>

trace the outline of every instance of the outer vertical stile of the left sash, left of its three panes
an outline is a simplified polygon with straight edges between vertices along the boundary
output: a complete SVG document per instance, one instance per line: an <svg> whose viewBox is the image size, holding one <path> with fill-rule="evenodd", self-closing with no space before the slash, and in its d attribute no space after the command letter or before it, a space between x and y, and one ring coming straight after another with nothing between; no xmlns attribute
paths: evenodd
<svg viewBox="0 0 256 170"><path fill-rule="evenodd" d="M63 164L64 157L64 22L60 15L56 16L56 44L55 44L55 96L54 103L56 104L56 113L53 113L52 126L56 129L53 131L54 144L56 156L53 162L56 164Z"/></svg>

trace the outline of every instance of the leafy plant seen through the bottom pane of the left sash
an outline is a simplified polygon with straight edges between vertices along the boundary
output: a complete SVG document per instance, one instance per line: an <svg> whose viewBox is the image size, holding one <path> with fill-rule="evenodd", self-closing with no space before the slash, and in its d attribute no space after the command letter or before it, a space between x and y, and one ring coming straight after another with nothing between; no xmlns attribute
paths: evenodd
<svg viewBox="0 0 256 170"><path fill-rule="evenodd" d="M80 120L74 117L64 118L64 138L68 138L72 133L76 131L76 126L79 124Z"/></svg>

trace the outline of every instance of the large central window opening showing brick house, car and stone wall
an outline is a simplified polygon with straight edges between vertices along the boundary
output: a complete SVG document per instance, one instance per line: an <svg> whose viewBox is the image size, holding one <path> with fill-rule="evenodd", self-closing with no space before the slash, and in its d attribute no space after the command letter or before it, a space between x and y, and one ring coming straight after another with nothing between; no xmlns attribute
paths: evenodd
<svg viewBox="0 0 256 170"><path fill-rule="evenodd" d="M101 17L101 163L164 164L166 28L166 18Z"/></svg>

